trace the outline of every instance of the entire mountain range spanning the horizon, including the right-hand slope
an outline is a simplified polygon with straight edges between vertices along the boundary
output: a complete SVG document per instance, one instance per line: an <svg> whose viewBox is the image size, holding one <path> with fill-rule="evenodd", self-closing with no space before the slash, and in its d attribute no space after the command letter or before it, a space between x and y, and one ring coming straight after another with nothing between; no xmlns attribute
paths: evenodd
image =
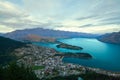
<svg viewBox="0 0 120 80"><path fill-rule="evenodd" d="M60 30L51 30L43 28L33 28L16 30L6 34L0 33L0 36L11 38L18 41L42 41L55 42L58 38L97 38L99 41L120 44L120 32L107 33L103 35L89 34L81 32L69 32Z"/></svg>

